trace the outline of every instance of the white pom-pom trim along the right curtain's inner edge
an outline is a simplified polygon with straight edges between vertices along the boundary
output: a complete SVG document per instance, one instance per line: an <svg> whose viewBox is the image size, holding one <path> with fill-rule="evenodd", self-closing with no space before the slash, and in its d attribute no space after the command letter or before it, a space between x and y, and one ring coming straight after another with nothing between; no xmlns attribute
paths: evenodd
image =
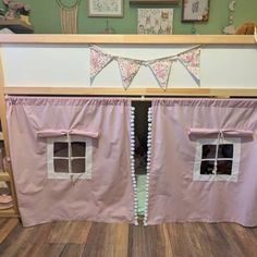
<svg viewBox="0 0 257 257"><path fill-rule="evenodd" d="M146 166L146 199L144 211L144 225L147 225L148 220L148 200L149 200L149 180L150 180L150 164L151 164L151 121L152 109L148 109L148 136L147 136L147 166Z"/></svg>

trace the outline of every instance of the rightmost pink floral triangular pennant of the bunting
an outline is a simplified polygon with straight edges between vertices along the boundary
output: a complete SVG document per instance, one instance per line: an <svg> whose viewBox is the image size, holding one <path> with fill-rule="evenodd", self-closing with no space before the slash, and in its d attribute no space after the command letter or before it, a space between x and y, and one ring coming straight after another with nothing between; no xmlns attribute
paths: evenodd
<svg viewBox="0 0 257 257"><path fill-rule="evenodd" d="M194 48L179 54L179 60L195 78L197 84L200 82L200 48Z"/></svg>

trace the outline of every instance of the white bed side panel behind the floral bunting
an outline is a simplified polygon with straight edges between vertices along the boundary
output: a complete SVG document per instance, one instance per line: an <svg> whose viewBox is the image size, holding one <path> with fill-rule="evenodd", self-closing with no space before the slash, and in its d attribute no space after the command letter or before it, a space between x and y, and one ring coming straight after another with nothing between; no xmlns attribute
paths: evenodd
<svg viewBox="0 0 257 257"><path fill-rule="evenodd" d="M105 52L140 60L169 57L192 45L98 45ZM90 85L89 45L3 44L5 87L122 88L115 61L107 65ZM200 58L201 88L257 88L256 45L204 45ZM168 88L197 88L184 66L172 65ZM131 88L159 88L147 66L142 66Z"/></svg>

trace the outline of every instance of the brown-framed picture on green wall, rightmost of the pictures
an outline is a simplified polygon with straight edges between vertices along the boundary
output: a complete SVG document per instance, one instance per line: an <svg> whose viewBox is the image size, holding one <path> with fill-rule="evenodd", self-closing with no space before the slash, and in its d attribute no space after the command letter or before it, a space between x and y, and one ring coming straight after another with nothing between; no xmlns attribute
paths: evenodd
<svg viewBox="0 0 257 257"><path fill-rule="evenodd" d="M182 0L182 22L207 22L209 0Z"/></svg>

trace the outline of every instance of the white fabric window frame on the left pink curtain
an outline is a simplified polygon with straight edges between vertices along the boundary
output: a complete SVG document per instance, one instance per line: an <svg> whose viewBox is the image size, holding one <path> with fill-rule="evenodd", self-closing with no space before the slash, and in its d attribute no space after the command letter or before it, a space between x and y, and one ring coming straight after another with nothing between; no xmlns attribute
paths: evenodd
<svg viewBox="0 0 257 257"><path fill-rule="evenodd" d="M54 154L53 154L53 147L54 143L73 143L73 142L82 142L86 144L86 150L85 150L85 172L83 173L72 173L71 167L69 166L69 173L66 172L54 172L54 166L53 161ZM83 157L64 157L60 159L83 159ZM75 180L82 180L82 179L91 179L91 166L93 166L93 138L86 137L86 136L78 136L78 135L70 135L70 140L68 139L66 135L58 136L58 137L49 137L47 138L47 166L48 166L48 179L75 179Z"/></svg>

